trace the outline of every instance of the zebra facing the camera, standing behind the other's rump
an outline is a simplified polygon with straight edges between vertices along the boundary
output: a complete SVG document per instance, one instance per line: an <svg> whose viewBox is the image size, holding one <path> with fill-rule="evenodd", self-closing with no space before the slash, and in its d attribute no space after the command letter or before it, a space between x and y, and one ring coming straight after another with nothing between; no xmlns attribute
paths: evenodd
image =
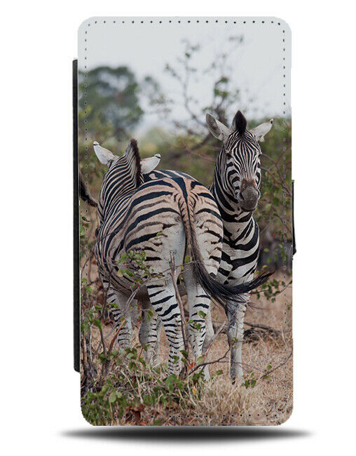
<svg viewBox="0 0 356 456"><path fill-rule="evenodd" d="M212 185L207 187L214 196L224 225L224 239L221 263L217 280L226 286L239 286L251 281L259 258L259 226L253 217L261 188L261 147L264 136L271 130L273 119L247 130L247 120L240 110L233 119L230 129L206 115L207 128L212 135L222 141L217 158ZM193 177L172 170L153 170L145 175L145 181L165 176ZM194 180L195 181L195 180ZM228 344L231 348L231 379L243 378L242 341L243 321L250 294L241 296L237 304L226 302L228 317ZM207 321L207 338L214 334L210 312ZM149 324L149 323L144 323Z"/></svg>

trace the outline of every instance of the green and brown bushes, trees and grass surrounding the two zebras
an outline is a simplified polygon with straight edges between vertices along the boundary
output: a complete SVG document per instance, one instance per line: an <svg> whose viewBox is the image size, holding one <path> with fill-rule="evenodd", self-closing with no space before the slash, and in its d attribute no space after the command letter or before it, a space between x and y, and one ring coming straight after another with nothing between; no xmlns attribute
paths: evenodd
<svg viewBox="0 0 356 456"><path fill-rule="evenodd" d="M231 37L243 46L243 37ZM123 154L128 139L139 131L142 158L159 152L160 168L182 170L205 185L212 182L214 161L221 145L205 127L210 112L229 125L240 109L241 88L229 72L228 55L221 54L207 68L195 65L199 46L184 43L177 65L164 69L179 83L179 100L185 117L174 119L173 101L151 75L144 79L128 67L97 67L79 75L79 163L93 197L97 197L105 169L93 153L93 141ZM207 105L196 100L191 81L209 77L212 93ZM175 100L174 102L177 102ZM249 100L248 126L267 119L253 115L255 100ZM144 118L153 116L156 125L142 132ZM81 388L82 410L93 424L275 424L292 411L292 224L291 224L291 121L274 119L263 150L261 200L255 212L261 229L259 269L275 270L268 283L252 294L245 317L242 359L245 378L232 384L228 376L228 343L224 311L213 305L217 337L210 347L212 380L203 375L185 350L185 369L179 377L167 375L161 363L153 368L144 361L145 347L138 342L137 323L132 347L121 351L116 345L118 327L97 276L93 246L97 215L95 208L81 202ZM135 256L136 255L136 256ZM138 256L137 256L138 255ZM144 253L132 253L125 261L139 264L136 286L144 282ZM135 293L135 289L132 290ZM183 298L186 309L186 300ZM148 317L149 318L149 317ZM185 319L187 321L187 318ZM167 341L162 335L162 353ZM205 360L203 359L202 362Z"/></svg>

